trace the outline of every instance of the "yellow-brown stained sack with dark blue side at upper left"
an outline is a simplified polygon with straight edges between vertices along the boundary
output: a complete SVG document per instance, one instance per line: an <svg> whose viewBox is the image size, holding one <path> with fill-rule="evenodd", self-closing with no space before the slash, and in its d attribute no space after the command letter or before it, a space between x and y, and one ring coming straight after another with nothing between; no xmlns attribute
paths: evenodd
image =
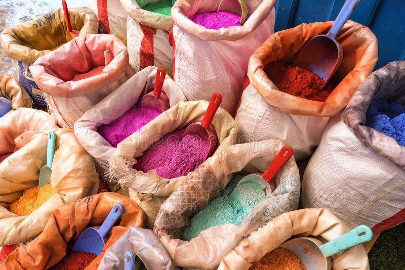
<svg viewBox="0 0 405 270"><path fill-rule="evenodd" d="M89 8L69 9L72 30L80 36L96 34L98 20ZM48 12L34 20L8 27L0 34L3 50L19 65L19 81L32 98L34 107L47 108L41 89L35 84L28 67L38 57L44 56L66 43L66 22L63 9Z"/></svg>

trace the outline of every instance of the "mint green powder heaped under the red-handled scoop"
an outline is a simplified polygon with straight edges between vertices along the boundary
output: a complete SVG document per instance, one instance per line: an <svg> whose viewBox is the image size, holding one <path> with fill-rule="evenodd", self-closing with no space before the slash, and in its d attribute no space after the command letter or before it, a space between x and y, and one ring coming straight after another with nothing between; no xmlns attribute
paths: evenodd
<svg viewBox="0 0 405 270"><path fill-rule="evenodd" d="M221 196L212 200L204 209L191 218L191 224L184 230L183 240L190 241L200 232L221 224L239 224L248 214L264 200L264 192L259 184L253 182L238 185L232 193L228 193L244 176L236 175Z"/></svg>

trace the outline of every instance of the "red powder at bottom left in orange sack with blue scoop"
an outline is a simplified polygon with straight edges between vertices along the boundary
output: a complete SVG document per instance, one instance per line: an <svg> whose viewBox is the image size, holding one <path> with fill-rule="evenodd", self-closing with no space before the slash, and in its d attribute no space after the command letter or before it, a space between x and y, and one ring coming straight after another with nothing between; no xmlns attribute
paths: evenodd
<svg viewBox="0 0 405 270"><path fill-rule="evenodd" d="M96 254L87 251L72 251L69 255L63 257L60 262L52 266L50 270L83 270L96 257Z"/></svg>

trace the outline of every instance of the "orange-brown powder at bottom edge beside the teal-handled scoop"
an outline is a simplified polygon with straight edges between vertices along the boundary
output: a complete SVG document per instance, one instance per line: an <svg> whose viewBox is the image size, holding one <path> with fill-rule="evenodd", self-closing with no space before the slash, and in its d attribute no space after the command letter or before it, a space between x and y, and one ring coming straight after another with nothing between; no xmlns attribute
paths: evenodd
<svg viewBox="0 0 405 270"><path fill-rule="evenodd" d="M294 252L285 248L276 248L259 261L254 262L249 270L306 270L304 263Z"/></svg>

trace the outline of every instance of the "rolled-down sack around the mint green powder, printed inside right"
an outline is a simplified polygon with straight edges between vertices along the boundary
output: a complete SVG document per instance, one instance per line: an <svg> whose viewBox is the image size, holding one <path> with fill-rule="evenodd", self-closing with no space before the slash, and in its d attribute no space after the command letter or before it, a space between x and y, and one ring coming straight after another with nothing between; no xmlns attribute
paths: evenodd
<svg viewBox="0 0 405 270"><path fill-rule="evenodd" d="M215 269L222 257L248 233L274 217L298 208L300 175L292 157L276 175L276 189L239 226L211 227L190 242L180 240L191 217L220 195L235 173L263 172L283 144L278 140L239 144L210 157L161 205L153 232L160 238L178 266Z"/></svg>

